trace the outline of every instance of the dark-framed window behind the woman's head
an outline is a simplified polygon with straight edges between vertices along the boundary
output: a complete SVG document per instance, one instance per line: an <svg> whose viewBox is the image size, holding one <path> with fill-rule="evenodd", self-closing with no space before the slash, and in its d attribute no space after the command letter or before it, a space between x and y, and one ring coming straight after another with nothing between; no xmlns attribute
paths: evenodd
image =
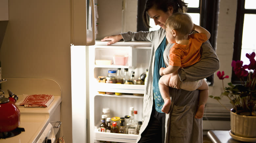
<svg viewBox="0 0 256 143"><path fill-rule="evenodd" d="M137 31L151 31L157 30L160 26L155 25L154 20L150 21L150 26L152 29L147 29L143 25L142 13L145 6L146 0L138 0L138 22ZM213 49L215 49L216 32L217 32L217 16L218 16L218 5L219 1L215 0L184 0L188 3L187 13L192 17L195 24L198 24L211 33L209 39ZM213 85L213 75L207 78L207 81L211 82Z"/></svg>

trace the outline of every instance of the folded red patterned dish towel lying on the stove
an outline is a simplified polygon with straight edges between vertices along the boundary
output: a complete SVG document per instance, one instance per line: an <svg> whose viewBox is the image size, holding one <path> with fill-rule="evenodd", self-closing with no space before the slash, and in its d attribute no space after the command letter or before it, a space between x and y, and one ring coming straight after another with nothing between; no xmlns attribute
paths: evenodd
<svg viewBox="0 0 256 143"><path fill-rule="evenodd" d="M53 95L27 95L21 101L17 102L16 105L24 107L48 107L53 102Z"/></svg>

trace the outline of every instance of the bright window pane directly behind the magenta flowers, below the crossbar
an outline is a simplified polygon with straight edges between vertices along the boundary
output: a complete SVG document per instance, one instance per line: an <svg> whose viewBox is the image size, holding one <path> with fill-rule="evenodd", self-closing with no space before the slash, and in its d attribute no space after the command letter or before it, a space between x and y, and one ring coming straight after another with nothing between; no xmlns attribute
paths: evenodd
<svg viewBox="0 0 256 143"><path fill-rule="evenodd" d="M253 42L255 40L256 28L252 28L255 27L255 19L256 14L245 14L241 49L241 60L245 65L250 63L245 54L255 52L256 49L255 42Z"/></svg>

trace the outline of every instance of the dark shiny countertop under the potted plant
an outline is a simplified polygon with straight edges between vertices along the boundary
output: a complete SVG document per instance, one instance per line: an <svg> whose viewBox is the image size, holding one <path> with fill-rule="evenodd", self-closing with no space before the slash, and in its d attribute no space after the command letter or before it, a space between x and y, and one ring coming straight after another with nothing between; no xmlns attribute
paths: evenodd
<svg viewBox="0 0 256 143"><path fill-rule="evenodd" d="M207 136L211 139L213 143L248 143L244 141L235 140L229 135L229 131L210 130L208 131Z"/></svg>

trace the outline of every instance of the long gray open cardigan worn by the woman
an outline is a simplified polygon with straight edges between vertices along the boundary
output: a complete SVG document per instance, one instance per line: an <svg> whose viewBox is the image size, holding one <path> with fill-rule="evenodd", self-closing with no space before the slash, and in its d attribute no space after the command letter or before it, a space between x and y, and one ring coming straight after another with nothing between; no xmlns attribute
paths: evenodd
<svg viewBox="0 0 256 143"><path fill-rule="evenodd" d="M139 137L148 125L153 106L153 71L155 52L165 37L165 30L160 28L150 32L127 32L121 34L124 41L151 41L152 50L148 70L148 82L145 85L143 98L143 119ZM168 55L173 44L168 43L163 53L166 66L169 65ZM181 81L195 81L206 78L219 69L219 59L209 41L201 46L201 60L193 66L179 70ZM202 119L195 119L199 91L186 91L170 88L172 104L165 119L165 143L203 143Z"/></svg>

